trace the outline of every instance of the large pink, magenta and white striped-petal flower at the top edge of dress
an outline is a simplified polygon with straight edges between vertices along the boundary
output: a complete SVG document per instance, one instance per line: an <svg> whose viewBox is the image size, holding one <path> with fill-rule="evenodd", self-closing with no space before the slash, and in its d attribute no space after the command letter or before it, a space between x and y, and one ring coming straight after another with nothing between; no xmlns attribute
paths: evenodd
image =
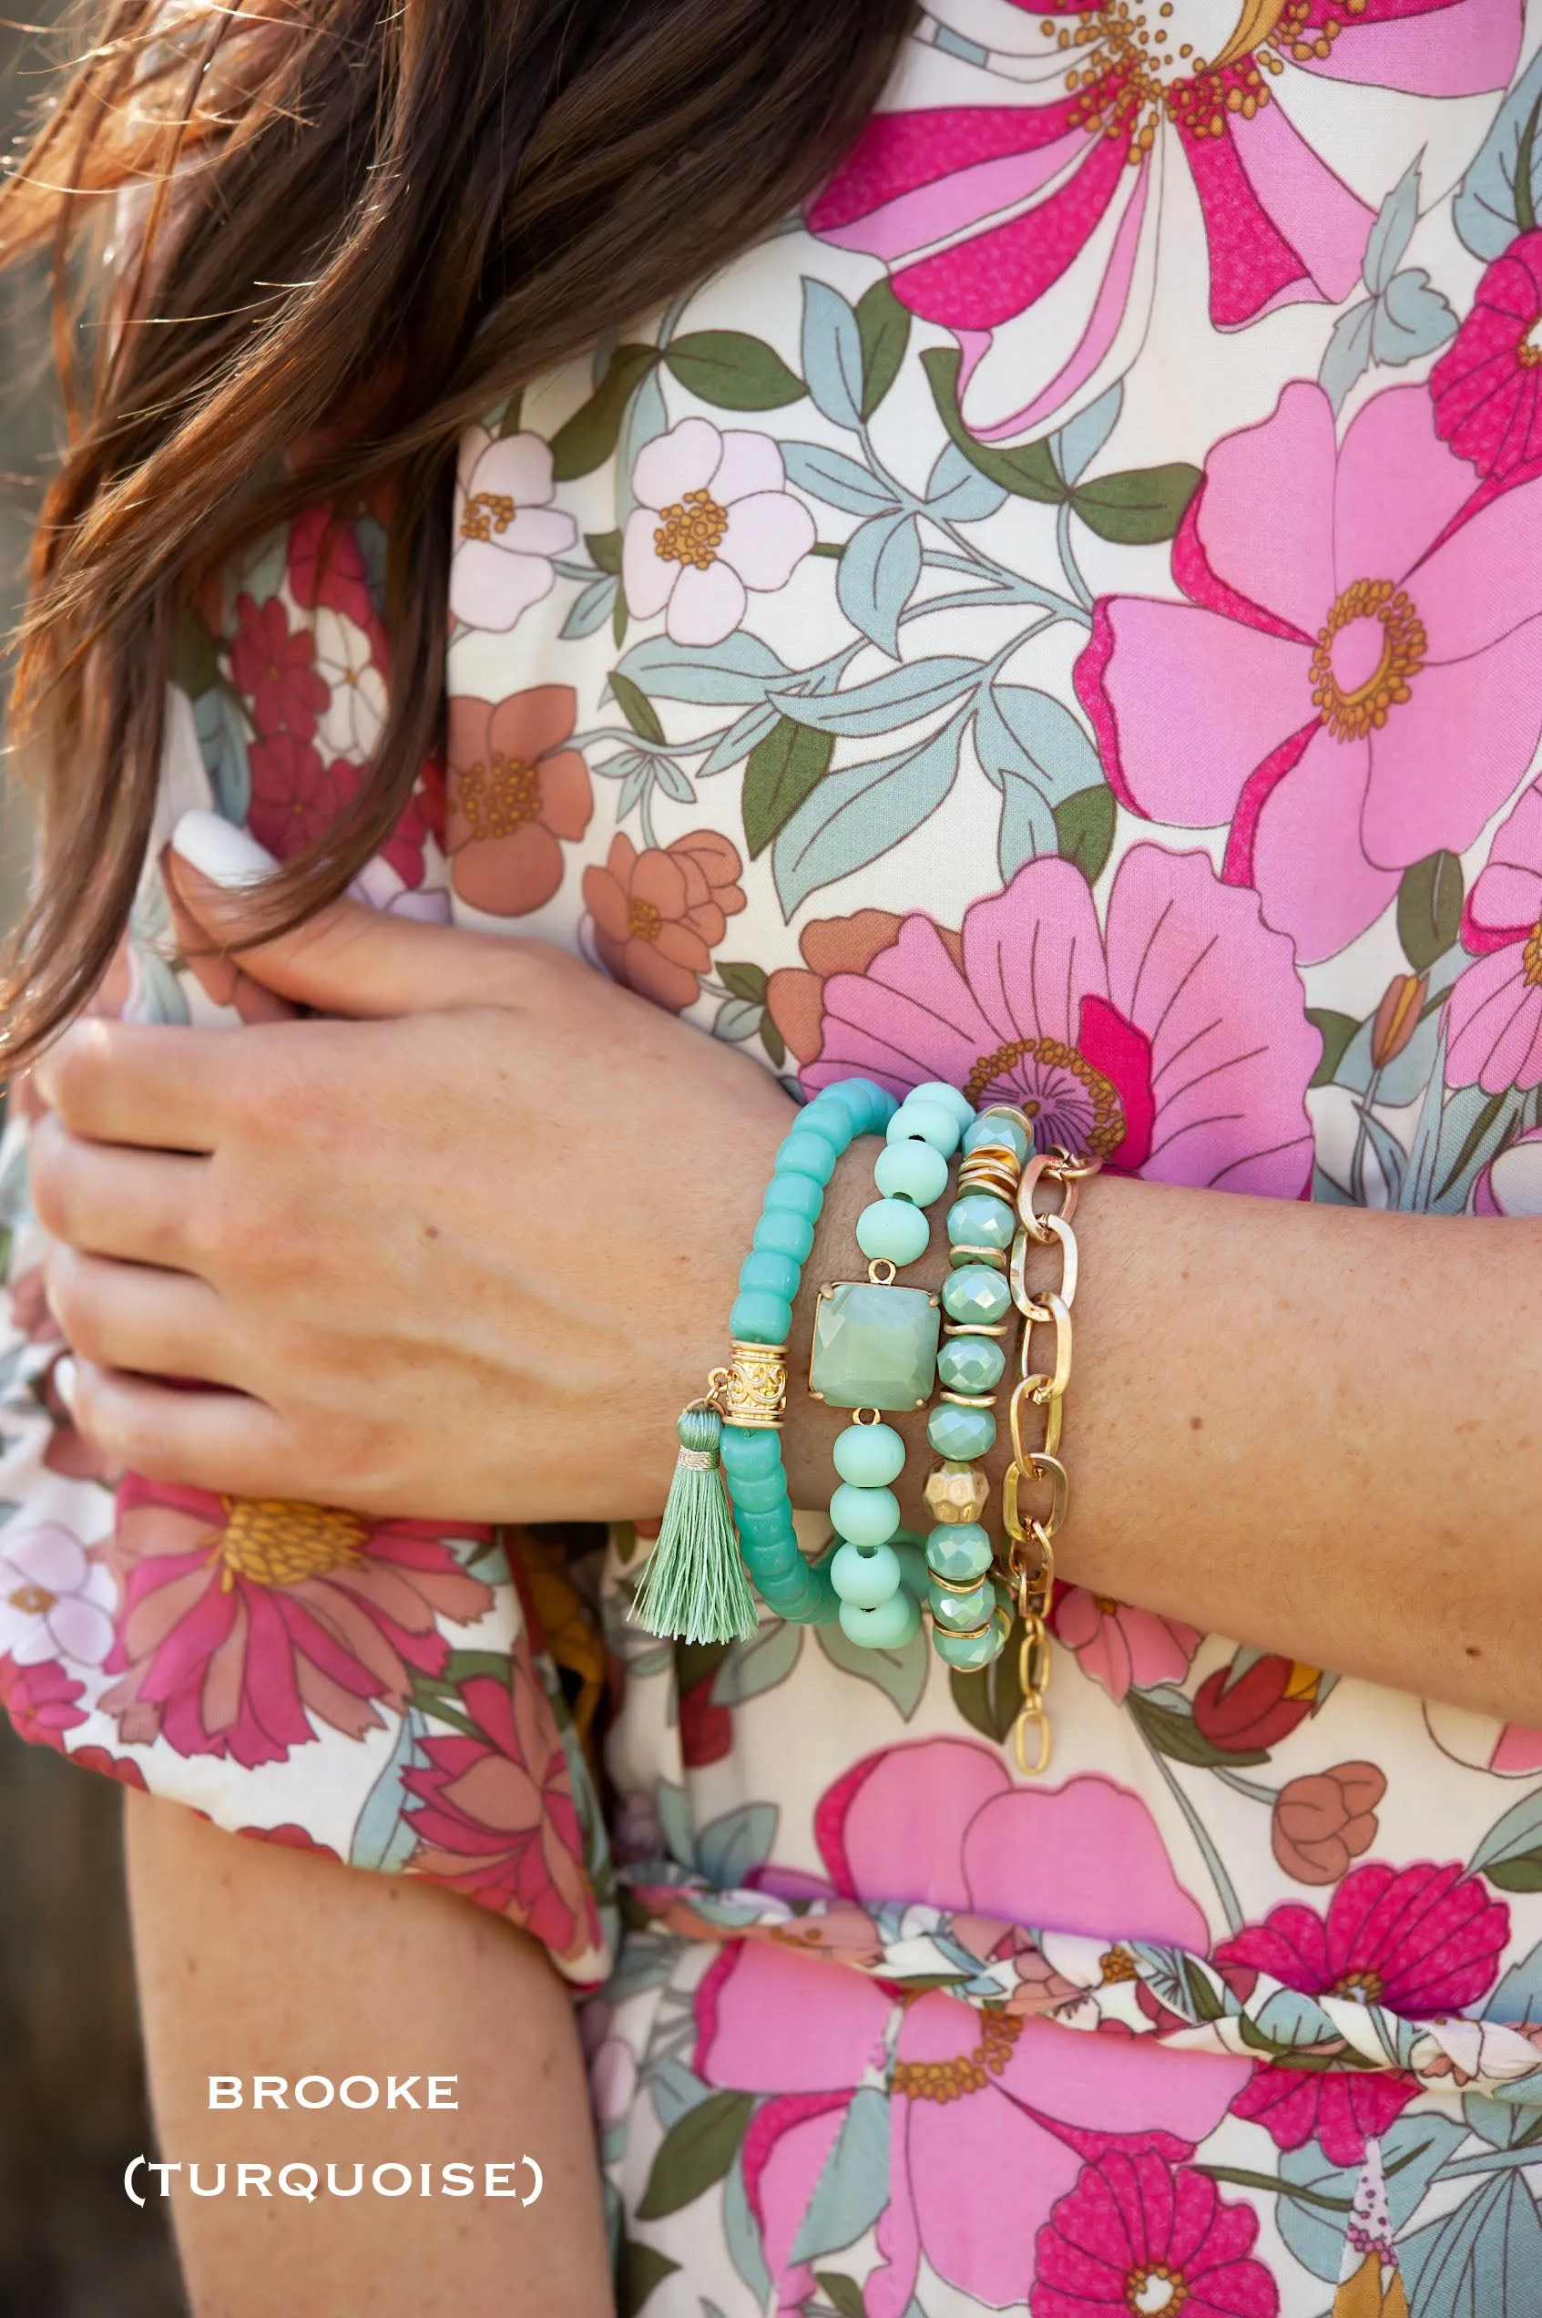
<svg viewBox="0 0 1542 2318"><path fill-rule="evenodd" d="M953 67L960 95L990 102L877 114L809 211L812 232L881 257L895 297L955 331L965 420L988 440L1092 401L1139 352L1162 283L1206 262L1215 329L1338 304L1377 199L1352 190L1350 90L1433 100L1401 107L1408 148L1384 153L1380 188L1442 100L1505 88L1521 44L1514 0L1287 0L1224 21L1176 0L1162 25L1090 0L1013 5L1020 30L990 12L992 70ZM1192 195L1173 199L1180 176Z"/></svg>

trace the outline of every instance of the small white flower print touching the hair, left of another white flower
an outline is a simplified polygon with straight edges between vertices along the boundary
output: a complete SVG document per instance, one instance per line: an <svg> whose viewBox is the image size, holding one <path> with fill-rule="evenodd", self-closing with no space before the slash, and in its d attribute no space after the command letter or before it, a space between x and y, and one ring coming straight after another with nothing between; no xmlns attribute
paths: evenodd
<svg viewBox="0 0 1542 2318"><path fill-rule="evenodd" d="M552 505L552 445L540 436L461 438L454 482L450 610L468 628L512 628L552 593L552 556L577 540L577 524Z"/></svg>

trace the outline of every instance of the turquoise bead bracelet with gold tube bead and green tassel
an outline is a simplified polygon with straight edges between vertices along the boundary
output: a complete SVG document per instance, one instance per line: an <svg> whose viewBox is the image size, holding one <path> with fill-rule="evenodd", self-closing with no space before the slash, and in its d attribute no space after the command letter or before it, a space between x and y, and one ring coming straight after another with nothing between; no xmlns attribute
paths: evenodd
<svg viewBox="0 0 1542 2318"><path fill-rule="evenodd" d="M631 1611L652 1634L682 1641L754 1634L758 1613L747 1576L779 1618L825 1625L837 1616L828 1567L802 1558L786 1495L779 1439L786 1340L825 1184L849 1145L888 1127L893 1113L895 1099L883 1087L839 1080L798 1113L777 1150L728 1314L733 1365L712 1372L705 1398L677 1423L675 1481Z"/></svg>

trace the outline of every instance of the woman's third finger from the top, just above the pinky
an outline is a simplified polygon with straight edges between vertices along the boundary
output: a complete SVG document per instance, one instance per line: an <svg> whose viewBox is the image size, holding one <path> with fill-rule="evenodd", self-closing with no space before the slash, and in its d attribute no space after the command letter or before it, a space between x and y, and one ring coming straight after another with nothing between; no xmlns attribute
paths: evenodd
<svg viewBox="0 0 1542 2318"><path fill-rule="evenodd" d="M56 1242L44 1259L44 1282L77 1358L151 1377L241 1382L227 1310L204 1280L83 1256Z"/></svg>

